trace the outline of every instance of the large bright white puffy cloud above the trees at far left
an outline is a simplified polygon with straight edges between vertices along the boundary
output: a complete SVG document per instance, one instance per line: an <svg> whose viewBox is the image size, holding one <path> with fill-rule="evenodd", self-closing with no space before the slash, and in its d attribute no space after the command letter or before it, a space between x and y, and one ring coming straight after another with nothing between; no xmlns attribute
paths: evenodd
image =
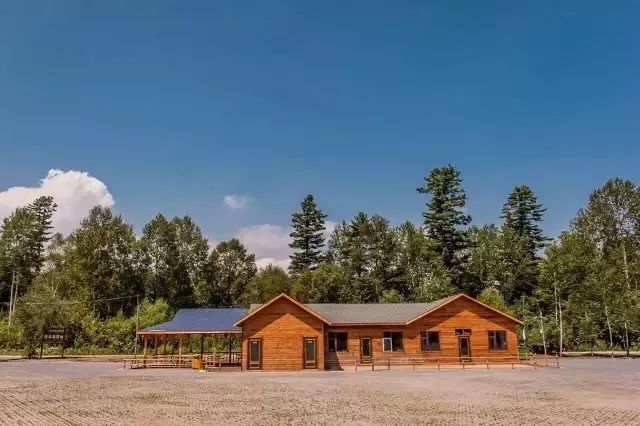
<svg viewBox="0 0 640 426"><path fill-rule="evenodd" d="M55 232L63 234L75 229L92 207L114 204L104 182L89 173L52 169L38 186L14 186L0 192L0 219L43 195L51 195L58 205L52 225Z"/></svg>

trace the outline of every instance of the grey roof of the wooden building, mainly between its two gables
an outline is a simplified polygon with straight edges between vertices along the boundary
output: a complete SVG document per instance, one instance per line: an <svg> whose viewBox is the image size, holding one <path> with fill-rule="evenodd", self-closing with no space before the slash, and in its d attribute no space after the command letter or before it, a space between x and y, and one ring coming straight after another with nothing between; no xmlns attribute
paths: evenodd
<svg viewBox="0 0 640 426"><path fill-rule="evenodd" d="M306 303L304 306L332 324L404 324L448 299L428 303ZM260 306L251 305L249 312Z"/></svg>

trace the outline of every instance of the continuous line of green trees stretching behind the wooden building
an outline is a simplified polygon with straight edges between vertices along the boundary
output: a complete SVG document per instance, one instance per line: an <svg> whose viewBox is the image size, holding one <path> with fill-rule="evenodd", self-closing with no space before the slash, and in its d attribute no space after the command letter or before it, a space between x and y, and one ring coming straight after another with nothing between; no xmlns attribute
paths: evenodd
<svg viewBox="0 0 640 426"><path fill-rule="evenodd" d="M127 351L139 307L144 326L182 307L248 306L281 292L307 303L423 302L465 292L523 319L521 343L530 348L638 346L634 182L616 178L596 189L555 239L526 185L506 196L500 224L471 225L451 165L431 170L416 194L425 198L422 223L393 226L358 212L327 239L327 216L306 196L291 217L287 271L258 270L238 239L211 247L188 216L158 214L137 236L122 216L94 207L69 235L52 234L57 206L40 197L0 228L0 348L32 354L47 327L62 325L71 346Z"/></svg>

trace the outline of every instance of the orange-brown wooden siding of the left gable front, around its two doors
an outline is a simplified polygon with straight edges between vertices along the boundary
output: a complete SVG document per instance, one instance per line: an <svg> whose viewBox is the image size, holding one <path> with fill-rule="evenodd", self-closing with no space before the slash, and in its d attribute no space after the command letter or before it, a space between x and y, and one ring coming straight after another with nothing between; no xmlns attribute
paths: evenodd
<svg viewBox="0 0 640 426"><path fill-rule="evenodd" d="M281 298L242 324L242 368L248 367L248 342L262 338L263 370L302 370L303 338L317 338L317 365L324 367L324 323Z"/></svg>

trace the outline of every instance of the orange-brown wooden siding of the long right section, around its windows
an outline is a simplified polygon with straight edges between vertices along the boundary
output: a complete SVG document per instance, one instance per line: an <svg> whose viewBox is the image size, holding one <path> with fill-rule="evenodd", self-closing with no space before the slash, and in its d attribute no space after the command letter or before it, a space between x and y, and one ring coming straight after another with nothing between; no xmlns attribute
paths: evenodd
<svg viewBox="0 0 640 426"><path fill-rule="evenodd" d="M471 329L471 358L480 360L486 357L514 357L518 353L517 324L512 320L485 308L469 299L459 298L408 326L351 326L325 327L325 347L328 348L329 332L347 332L349 355L338 354L340 360L352 362L360 360L360 338L371 337L374 358L446 358L458 357L458 336L456 328ZM489 350L489 331L504 330L507 334L506 350ZM385 331L403 333L403 351L384 352L382 337ZM440 333L439 351L422 351L420 332L438 331ZM351 358L351 360L348 360ZM453 359L449 360L453 362Z"/></svg>

